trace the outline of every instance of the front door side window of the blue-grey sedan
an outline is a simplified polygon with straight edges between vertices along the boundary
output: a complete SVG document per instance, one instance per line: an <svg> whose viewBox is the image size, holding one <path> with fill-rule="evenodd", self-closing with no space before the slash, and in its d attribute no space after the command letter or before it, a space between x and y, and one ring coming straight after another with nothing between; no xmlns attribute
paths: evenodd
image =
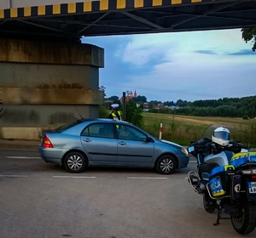
<svg viewBox="0 0 256 238"><path fill-rule="evenodd" d="M117 127L119 139L128 139L128 140L137 140L137 141L146 141L146 135L137 128L119 125Z"/></svg>

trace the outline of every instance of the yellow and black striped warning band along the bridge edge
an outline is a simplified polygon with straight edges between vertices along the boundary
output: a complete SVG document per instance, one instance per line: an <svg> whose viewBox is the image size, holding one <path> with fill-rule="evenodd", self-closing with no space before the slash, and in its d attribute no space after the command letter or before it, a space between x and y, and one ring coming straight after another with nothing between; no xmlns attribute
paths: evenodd
<svg viewBox="0 0 256 238"><path fill-rule="evenodd" d="M81 3L61 3L45 6L0 9L1 19L14 19L61 14L81 14L108 10L154 8L178 4L221 2L222 0L101 0Z"/></svg>

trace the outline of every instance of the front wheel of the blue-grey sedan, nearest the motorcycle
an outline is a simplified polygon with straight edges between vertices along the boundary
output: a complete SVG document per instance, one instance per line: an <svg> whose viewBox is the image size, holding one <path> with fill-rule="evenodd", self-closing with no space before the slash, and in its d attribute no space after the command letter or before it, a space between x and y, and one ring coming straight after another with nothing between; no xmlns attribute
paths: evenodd
<svg viewBox="0 0 256 238"><path fill-rule="evenodd" d="M155 170L160 174L171 174L175 171L175 160L172 156L160 156L156 161Z"/></svg>

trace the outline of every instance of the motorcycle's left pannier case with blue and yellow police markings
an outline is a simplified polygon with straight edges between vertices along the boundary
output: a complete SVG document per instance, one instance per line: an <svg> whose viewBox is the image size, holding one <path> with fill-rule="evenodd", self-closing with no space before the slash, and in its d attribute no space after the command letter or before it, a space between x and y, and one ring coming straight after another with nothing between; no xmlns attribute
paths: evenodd
<svg viewBox="0 0 256 238"><path fill-rule="evenodd" d="M235 174L233 166L219 166L212 169L209 184L213 197L230 195L231 176Z"/></svg>

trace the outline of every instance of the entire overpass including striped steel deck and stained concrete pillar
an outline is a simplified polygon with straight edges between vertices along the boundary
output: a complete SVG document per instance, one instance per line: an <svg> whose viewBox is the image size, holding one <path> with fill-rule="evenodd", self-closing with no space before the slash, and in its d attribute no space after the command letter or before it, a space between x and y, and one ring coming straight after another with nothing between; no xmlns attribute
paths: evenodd
<svg viewBox="0 0 256 238"><path fill-rule="evenodd" d="M0 138L99 115L104 49L81 37L249 26L255 0L1 1Z"/></svg>

